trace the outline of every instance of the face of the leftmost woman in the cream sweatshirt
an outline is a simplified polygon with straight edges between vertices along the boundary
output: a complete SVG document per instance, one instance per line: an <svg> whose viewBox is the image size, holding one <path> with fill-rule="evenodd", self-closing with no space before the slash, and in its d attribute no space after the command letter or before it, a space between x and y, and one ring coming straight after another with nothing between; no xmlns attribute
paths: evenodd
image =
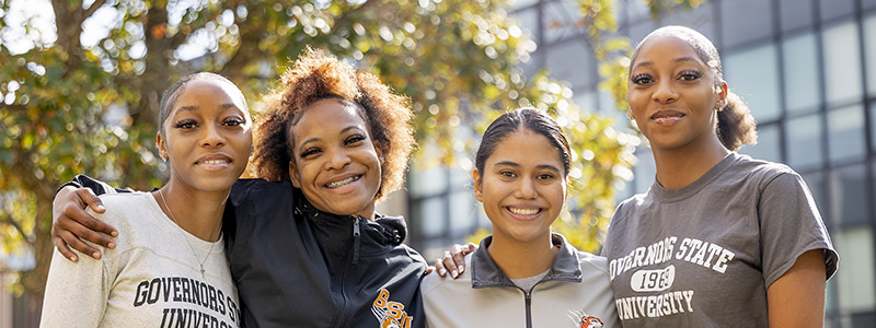
<svg viewBox="0 0 876 328"><path fill-rule="evenodd" d="M170 160L170 184L227 192L246 167L253 144L243 96L214 80L193 80L176 92L157 137L161 156Z"/></svg>

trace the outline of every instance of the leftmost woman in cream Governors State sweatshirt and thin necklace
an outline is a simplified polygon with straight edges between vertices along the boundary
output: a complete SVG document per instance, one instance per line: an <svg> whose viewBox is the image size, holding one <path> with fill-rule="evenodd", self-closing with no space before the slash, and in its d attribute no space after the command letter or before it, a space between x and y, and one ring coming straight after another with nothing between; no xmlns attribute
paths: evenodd
<svg viewBox="0 0 876 328"><path fill-rule="evenodd" d="M56 251L42 327L240 327L222 242L222 210L253 138L243 94L212 73L164 93L157 144L170 180L152 192L105 195L91 212L122 235L100 259Z"/></svg>

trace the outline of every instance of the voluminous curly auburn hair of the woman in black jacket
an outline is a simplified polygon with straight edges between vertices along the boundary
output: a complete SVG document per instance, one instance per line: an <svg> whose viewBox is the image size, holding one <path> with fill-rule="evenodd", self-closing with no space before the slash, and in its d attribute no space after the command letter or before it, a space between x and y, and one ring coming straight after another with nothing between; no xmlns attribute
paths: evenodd
<svg viewBox="0 0 876 328"><path fill-rule="evenodd" d="M280 84L265 96L265 110L254 130L255 175L269 181L290 180L291 128L304 108L324 98L358 105L371 140L383 153L377 200L397 190L415 145L410 101L394 94L378 77L311 48L304 49L283 73Z"/></svg>

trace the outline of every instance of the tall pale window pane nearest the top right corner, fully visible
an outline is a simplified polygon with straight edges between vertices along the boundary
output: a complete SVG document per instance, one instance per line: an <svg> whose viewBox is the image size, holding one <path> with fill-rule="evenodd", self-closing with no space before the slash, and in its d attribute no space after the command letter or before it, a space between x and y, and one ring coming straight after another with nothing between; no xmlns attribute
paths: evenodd
<svg viewBox="0 0 876 328"><path fill-rule="evenodd" d="M854 101L861 96L863 81L857 26L842 23L825 30L822 36L828 104Z"/></svg>

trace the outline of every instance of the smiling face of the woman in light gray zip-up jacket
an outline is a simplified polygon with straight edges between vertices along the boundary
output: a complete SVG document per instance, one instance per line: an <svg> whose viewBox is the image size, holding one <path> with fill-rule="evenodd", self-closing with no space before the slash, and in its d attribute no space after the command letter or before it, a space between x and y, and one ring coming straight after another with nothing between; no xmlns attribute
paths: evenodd
<svg viewBox="0 0 876 328"><path fill-rule="evenodd" d="M568 196L561 151L526 128L496 144L483 172L474 172L474 196L484 203L495 242L550 241Z"/></svg>

